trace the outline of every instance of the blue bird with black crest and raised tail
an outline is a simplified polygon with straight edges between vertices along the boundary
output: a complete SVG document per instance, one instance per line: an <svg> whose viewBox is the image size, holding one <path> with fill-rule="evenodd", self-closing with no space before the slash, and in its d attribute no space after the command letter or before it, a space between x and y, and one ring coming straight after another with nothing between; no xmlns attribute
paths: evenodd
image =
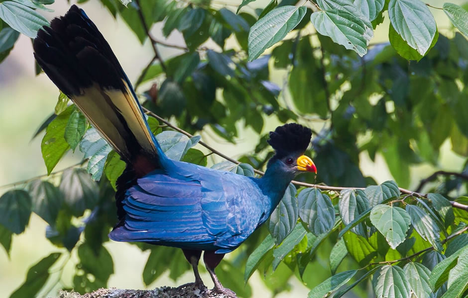
<svg viewBox="0 0 468 298"><path fill-rule="evenodd" d="M196 287L202 252L216 293L235 297L215 274L232 252L272 214L293 178L317 168L304 152L312 136L296 123L269 133L275 150L261 177L169 159L151 133L130 80L110 45L76 5L38 30L34 57L125 161L117 179L115 241L181 248Z"/></svg>

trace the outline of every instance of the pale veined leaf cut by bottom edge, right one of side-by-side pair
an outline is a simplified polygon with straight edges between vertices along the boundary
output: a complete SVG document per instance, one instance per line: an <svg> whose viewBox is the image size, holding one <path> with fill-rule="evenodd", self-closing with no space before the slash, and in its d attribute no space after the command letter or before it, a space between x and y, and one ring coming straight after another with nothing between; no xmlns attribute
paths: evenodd
<svg viewBox="0 0 468 298"><path fill-rule="evenodd" d="M411 293L415 298L429 298L431 295L431 286L429 285L429 275L431 271L420 263L409 262L403 267L408 283L411 287Z"/></svg>

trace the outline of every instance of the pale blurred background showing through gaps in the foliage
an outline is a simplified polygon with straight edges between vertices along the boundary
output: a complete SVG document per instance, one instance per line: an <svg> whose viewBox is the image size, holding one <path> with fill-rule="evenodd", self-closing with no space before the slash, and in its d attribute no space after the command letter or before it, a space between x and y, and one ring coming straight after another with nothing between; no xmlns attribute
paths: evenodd
<svg viewBox="0 0 468 298"><path fill-rule="evenodd" d="M214 2L213 6L224 6L224 4L216 4L216 1ZM264 7L268 2L267 0L258 0L243 9ZM436 6L442 5L442 1L439 0L427 0L426 2ZM464 1L453 0L453 2L462 4ZM240 0L230 1L229 3L232 3L233 6L228 5L227 7L235 10L235 6L240 3ZM41 13L50 20L54 16L63 15L68 10L69 5L66 1L56 1L50 5L50 8L54 9L55 12L41 11ZM113 19L100 2L94 0L88 1L82 4L81 7L86 10L89 17L97 24L111 44L126 74L134 82L152 57L150 44L146 42L141 46L127 25L119 17L117 17L117 21ZM431 9L431 11L436 18L439 31L445 32L450 28L450 22L442 10ZM311 25L307 28L310 31L314 30ZM157 39L163 39L159 24L154 25L151 32ZM375 37L371 42L385 42L388 40L387 36L388 18L385 19L383 25L377 27ZM183 45L183 38L179 32L174 31L169 37L168 42ZM231 43L234 45L234 41L231 41ZM163 58L180 54L180 52L164 47L161 47L161 53ZM272 71L270 79L281 86L283 74L280 71ZM40 150L42 134L35 139L31 140L31 138L36 128L54 110L57 96L58 89L45 74L34 75L31 40L26 36L20 36L11 54L0 64L0 185L10 184L46 173ZM263 133L274 129L276 124L274 120L267 120ZM316 125L316 129L320 130L321 124L318 123ZM257 143L257 140L252 140L255 136L256 134L251 129L239 130L236 146L218 137L214 137L214 134L209 131L202 134L202 140L214 148L236 157L253 149L253 146ZM392 179L381 156L377 156L375 162L370 160L367 153L361 153L359 157L360 168L364 176L371 176L378 183ZM61 160L56 166L56 170L72 165L80 161L81 158L82 153L77 150L75 154L69 154ZM216 161L221 161L220 158L213 158ZM209 160L209 165L213 162L214 160ZM446 140L441 148L439 167L437 169L459 171L463 162L464 159L462 157L451 151L450 141ZM420 179L429 176L437 169L429 164L419 164L411 167L410 189L414 189ZM2 187L0 195L8 189L7 187ZM0 297L8 297L24 281L25 273L31 264L58 250L45 238L46 226L47 224L42 219L32 214L30 224L25 232L13 237L10 256L8 257L3 248L0 248ZM115 274L109 280L109 287L144 289L141 273L149 252L143 253L137 247L127 243L110 241L104 245L111 252L115 262ZM74 253L76 254L76 251ZM72 258L76 258L76 256ZM328 270L328 265L324 264L321 270L317 270L319 282L322 281L320 277L322 270ZM71 284L74 271L73 262L69 262L63 274L65 283ZM271 293L263 286L257 274L255 273L250 280L253 290L252 297L269 297ZM164 274L148 288L177 286L191 282L193 279L191 271L184 274L177 282L170 280L167 275L167 273ZM202 278L208 287L212 287L211 279L207 273L203 273ZM51 280L54 279L53 276ZM309 292L297 279L291 279L291 286L291 292L281 293L278 297L306 297ZM50 295L53 295L56 290L53 289ZM41 293L42 296L46 296L47 294Z"/></svg>

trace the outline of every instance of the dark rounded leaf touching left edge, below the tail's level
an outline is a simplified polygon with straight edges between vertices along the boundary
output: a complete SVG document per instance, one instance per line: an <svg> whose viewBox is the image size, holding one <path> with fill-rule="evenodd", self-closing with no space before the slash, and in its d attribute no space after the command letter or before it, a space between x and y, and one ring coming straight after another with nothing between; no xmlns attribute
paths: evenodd
<svg viewBox="0 0 468 298"><path fill-rule="evenodd" d="M20 234L29 223L32 200L24 190L10 190L0 197L0 224Z"/></svg>

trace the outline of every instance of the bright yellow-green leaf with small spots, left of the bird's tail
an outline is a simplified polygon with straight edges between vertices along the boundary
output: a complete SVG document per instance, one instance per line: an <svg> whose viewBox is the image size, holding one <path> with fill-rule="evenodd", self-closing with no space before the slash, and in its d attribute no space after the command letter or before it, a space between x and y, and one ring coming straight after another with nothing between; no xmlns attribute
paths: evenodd
<svg viewBox="0 0 468 298"><path fill-rule="evenodd" d="M75 110L75 106L71 105L65 109L60 115L52 120L45 130L44 138L41 142L42 158L47 167L47 175L54 169L57 162L62 158L70 146L65 141L65 128L67 127L68 118Z"/></svg>

